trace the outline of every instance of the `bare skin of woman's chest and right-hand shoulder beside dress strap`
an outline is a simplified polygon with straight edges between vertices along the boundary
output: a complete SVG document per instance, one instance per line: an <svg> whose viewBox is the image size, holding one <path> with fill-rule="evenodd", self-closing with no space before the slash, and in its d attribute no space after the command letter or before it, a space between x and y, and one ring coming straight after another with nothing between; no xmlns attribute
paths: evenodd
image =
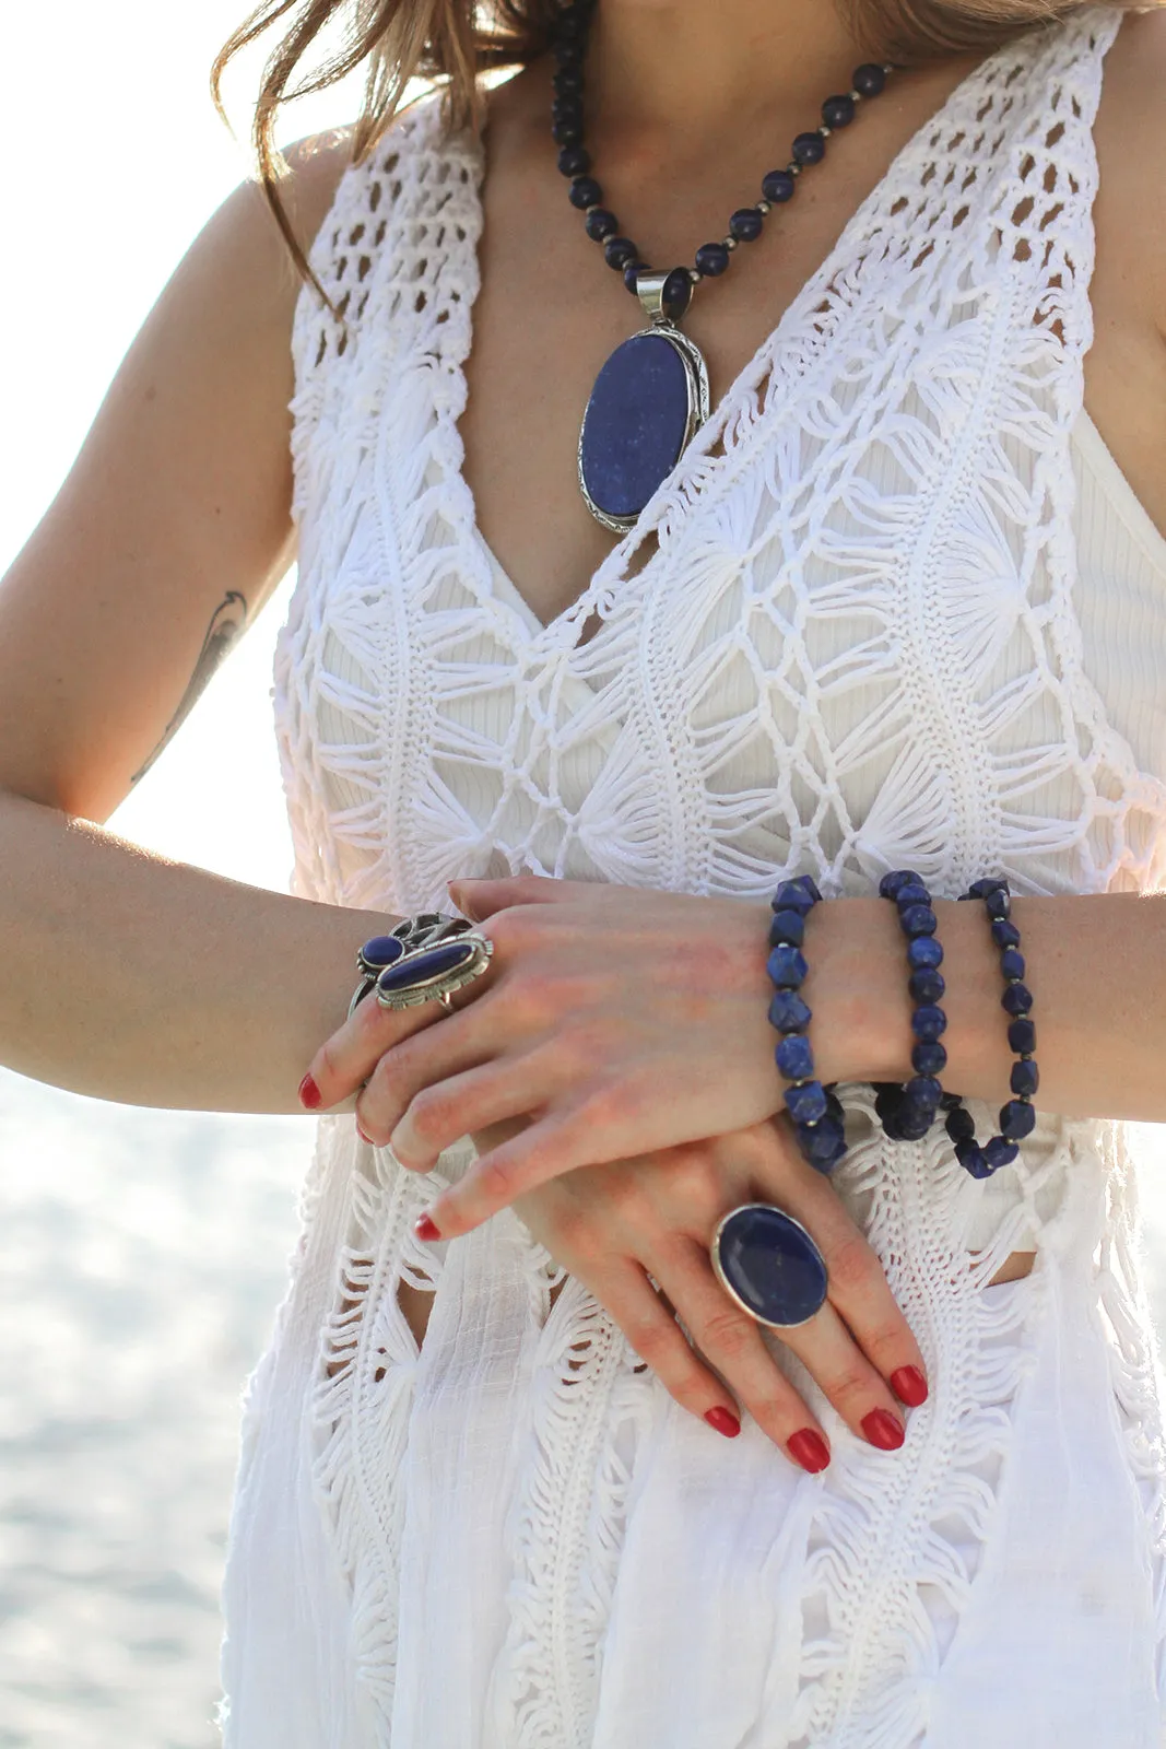
<svg viewBox="0 0 1166 1749"><path fill-rule="evenodd" d="M774 208L760 240L736 252L724 278L696 289L684 331L708 360L713 408L895 154L977 59L893 75L883 96L830 138L825 163L802 178L788 206ZM1166 311L1166 248L1154 241L1147 208L1154 154L1166 161L1166 150L1145 138L1149 122L1140 122L1150 59L1166 70L1166 17L1126 19L1107 56L1094 129L1101 192L1086 406L1166 530L1166 345L1157 325L1159 310ZM481 292L460 422L481 533L544 624L570 607L617 542L579 493L579 425L603 360L643 325L622 276L605 264L566 199L549 100L545 61L489 96ZM587 145L624 233L652 264L673 266L691 261L701 241L724 236L732 208L757 198L760 175L785 163L788 140L813 126L815 112L811 101L808 112L764 115L715 142L617 140L608 152L600 121Z"/></svg>

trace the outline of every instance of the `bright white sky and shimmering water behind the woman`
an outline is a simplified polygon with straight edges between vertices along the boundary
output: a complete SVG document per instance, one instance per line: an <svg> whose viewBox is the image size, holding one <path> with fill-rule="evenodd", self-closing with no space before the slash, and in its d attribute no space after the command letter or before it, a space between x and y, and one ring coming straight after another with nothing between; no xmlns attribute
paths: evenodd
<svg viewBox="0 0 1166 1749"><path fill-rule="evenodd" d="M166 276L246 173L206 91L241 12L5 14L0 570ZM239 135L255 75L252 54L227 87ZM358 101L353 84L308 100L281 138ZM292 581L110 820L273 888L292 861L269 700ZM0 1070L0 1749L213 1749L238 1397L283 1291L309 1149L309 1119L135 1111Z"/></svg>

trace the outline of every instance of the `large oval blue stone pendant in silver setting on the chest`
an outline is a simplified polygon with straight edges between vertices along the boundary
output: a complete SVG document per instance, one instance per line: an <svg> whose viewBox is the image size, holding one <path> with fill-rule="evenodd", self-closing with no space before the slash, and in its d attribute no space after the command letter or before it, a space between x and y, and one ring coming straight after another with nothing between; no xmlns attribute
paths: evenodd
<svg viewBox="0 0 1166 1749"><path fill-rule="evenodd" d="M594 380L579 432L579 486L615 533L635 526L708 418L708 371L671 322L626 339Z"/></svg>

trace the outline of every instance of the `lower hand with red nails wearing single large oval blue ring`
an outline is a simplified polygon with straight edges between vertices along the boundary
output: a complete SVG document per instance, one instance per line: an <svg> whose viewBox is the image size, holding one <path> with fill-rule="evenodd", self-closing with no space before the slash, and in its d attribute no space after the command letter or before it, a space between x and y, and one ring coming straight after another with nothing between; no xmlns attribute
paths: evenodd
<svg viewBox="0 0 1166 1749"><path fill-rule="evenodd" d="M493 1147L512 1130L496 1125L474 1142ZM684 1410L732 1413L727 1383L762 1432L813 1473L829 1462L822 1424L774 1362L760 1326L724 1291L708 1256L718 1219L745 1202L774 1203L801 1221L829 1272L822 1310L785 1336L769 1334L804 1362L858 1438L883 1450L902 1445L902 1413L885 1380L893 1380L902 1401L923 1401L923 1357L878 1256L829 1181L801 1158L785 1118L636 1160L579 1167L517 1196L512 1209L610 1312Z"/></svg>

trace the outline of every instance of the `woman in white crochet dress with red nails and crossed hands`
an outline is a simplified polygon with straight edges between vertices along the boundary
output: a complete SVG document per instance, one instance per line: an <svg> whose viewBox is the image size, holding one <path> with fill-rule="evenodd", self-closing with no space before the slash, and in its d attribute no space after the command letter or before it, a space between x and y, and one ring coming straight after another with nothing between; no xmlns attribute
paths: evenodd
<svg viewBox="0 0 1166 1749"><path fill-rule="evenodd" d="M425 65L451 124L292 154L302 290L227 201L0 593L3 1060L323 1112L250 1392L227 1742L1149 1749L1166 1459L1112 1119L1166 1118L1163 21L498 10L493 51L453 3L362 14L372 110ZM486 91L489 59L521 68ZM668 313L711 415L645 490L649 446L579 422ZM294 540L278 897L91 822ZM944 950L927 1074L904 866ZM832 1177L767 1020L794 874L827 895L773 927ZM1021 894L1042 1076L991 1177L872 1093L942 1069L984 1139L1017 1062L1035 1088L1007 901L954 902L982 876ZM451 899L482 976L353 1004L360 943ZM746 1203L816 1242L804 1322L717 1275Z"/></svg>

